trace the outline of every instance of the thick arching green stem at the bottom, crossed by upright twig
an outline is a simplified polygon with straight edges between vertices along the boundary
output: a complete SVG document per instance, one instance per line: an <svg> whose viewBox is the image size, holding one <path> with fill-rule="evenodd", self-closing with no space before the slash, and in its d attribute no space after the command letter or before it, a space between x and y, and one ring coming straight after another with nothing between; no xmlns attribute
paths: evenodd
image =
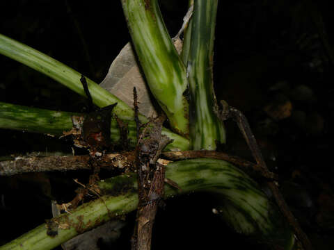
<svg viewBox="0 0 334 250"><path fill-rule="evenodd" d="M189 192L207 191L224 201L217 208L223 219L237 230L256 240L280 249L292 249L294 235L284 224L274 206L244 172L222 160L194 159L170 163L166 178L175 181L182 190L165 185L166 197ZM42 224L29 233L0 247L7 249L52 249L75 235L125 215L136 209L136 176L122 175L99 183L104 196L80 206L69 214L51 220L58 235L47 235L47 225ZM50 225L50 223L49 223Z"/></svg>

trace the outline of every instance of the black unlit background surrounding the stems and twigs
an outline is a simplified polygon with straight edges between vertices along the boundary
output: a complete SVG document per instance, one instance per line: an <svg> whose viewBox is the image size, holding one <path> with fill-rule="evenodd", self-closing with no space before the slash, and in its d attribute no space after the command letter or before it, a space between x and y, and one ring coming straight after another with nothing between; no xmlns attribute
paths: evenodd
<svg viewBox="0 0 334 250"><path fill-rule="evenodd" d="M173 36L187 1L160 1ZM333 249L333 28L326 1L220 1L214 53L217 99L246 114L267 164L315 249ZM0 1L0 33L100 83L130 40L120 1ZM322 34L322 35L319 35ZM83 112L86 99L47 76L0 56L0 101ZM292 108L291 108L292 107ZM226 151L252 160L237 127L227 123ZM71 143L0 129L0 155L71 153ZM51 217L50 199L74 197L89 172L0 178L0 244ZM154 228L154 249L249 247L212 214L214 201L191 195L167 201ZM133 219L133 215L130 216ZM129 248L132 224L118 242ZM176 243L183 242L182 245ZM177 247L178 246L178 247Z"/></svg>

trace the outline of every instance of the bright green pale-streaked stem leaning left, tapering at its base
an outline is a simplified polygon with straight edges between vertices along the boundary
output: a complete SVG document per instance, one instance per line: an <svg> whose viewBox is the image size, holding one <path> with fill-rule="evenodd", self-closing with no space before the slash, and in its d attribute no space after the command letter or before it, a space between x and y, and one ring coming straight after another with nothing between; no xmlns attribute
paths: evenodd
<svg viewBox="0 0 334 250"><path fill-rule="evenodd" d="M186 69L161 17L157 0L122 0L136 54L170 126L189 134Z"/></svg>

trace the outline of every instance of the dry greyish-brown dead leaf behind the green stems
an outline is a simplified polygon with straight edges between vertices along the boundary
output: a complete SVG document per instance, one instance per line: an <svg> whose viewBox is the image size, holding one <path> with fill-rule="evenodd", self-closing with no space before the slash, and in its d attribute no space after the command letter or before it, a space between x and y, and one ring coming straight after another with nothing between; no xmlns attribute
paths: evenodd
<svg viewBox="0 0 334 250"><path fill-rule="evenodd" d="M175 48L180 53L182 40L174 41ZM150 97L150 89L145 83L143 75L138 67L134 50L131 43L127 43L113 60L109 72L100 84L112 94L115 94L130 107L133 106L133 90L136 87L138 94L138 108L145 117L157 117L157 110L154 108Z"/></svg>

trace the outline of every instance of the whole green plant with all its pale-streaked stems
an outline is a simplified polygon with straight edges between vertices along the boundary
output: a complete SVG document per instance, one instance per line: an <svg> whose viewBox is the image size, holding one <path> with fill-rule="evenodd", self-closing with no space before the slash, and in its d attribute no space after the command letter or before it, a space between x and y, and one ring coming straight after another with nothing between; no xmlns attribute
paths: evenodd
<svg viewBox="0 0 334 250"><path fill-rule="evenodd" d="M197 0L193 17L184 34L184 49L179 56L164 25L157 0L122 0L136 56L155 99L164 110L173 132L163 132L174 142L169 149L216 149L225 142L223 124L215 114L216 100L212 84L214 26L218 0ZM81 74L25 44L0 35L0 53L54 78L83 96ZM93 103L99 107L118 103L115 115L129 123L129 137L135 142L134 112L126 103L86 78ZM72 127L72 113L41 110L0 103L0 127L59 135ZM148 118L141 115L142 122ZM117 124L111 124L113 140L119 137ZM235 231L253 236L282 249L292 249L294 235L280 213L257 184L236 167L221 160L185 160L167 165L166 176L180 185L182 192L206 190L217 193L223 206L218 213ZM78 207L71 214L54 218L58 235L51 238L45 225L22 235L0 249L52 249L89 230L92 221L105 222L112 215L136 209L136 178L118 176L99 183L105 196ZM127 192L110 192L115 185L129 187ZM109 190L109 192L108 192ZM166 196L175 194L166 186ZM76 218L82 218L77 222ZM71 222L72 224L66 224ZM65 225L66 224L66 225Z"/></svg>

